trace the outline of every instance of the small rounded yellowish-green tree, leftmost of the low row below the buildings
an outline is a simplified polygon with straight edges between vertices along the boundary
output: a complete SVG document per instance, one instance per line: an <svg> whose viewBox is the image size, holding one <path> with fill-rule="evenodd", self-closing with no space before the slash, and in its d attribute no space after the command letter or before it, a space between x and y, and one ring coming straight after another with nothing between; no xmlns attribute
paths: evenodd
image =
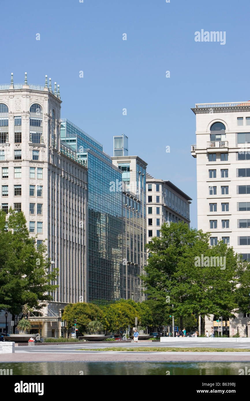
<svg viewBox="0 0 250 401"><path fill-rule="evenodd" d="M69 330L76 319L76 327L83 333L87 330L88 324L93 320L100 320L102 314L102 310L97 305L77 302L76 304L68 304L65 306L62 320L67 321L67 329Z"/></svg>

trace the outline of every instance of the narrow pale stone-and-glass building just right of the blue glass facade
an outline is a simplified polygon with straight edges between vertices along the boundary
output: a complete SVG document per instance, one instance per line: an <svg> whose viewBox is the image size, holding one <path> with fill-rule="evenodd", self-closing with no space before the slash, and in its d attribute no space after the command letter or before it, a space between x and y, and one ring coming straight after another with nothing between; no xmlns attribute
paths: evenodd
<svg viewBox="0 0 250 401"><path fill-rule="evenodd" d="M112 162L122 173L123 298L141 302L145 299L139 276L146 264L147 163L138 156L114 156Z"/></svg>

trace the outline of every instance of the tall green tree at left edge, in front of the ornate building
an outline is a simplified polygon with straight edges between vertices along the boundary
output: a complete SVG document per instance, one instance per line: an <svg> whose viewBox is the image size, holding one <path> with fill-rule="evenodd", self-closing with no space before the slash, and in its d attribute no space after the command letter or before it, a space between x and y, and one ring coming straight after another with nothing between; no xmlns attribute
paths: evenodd
<svg viewBox="0 0 250 401"><path fill-rule="evenodd" d="M7 226L6 226L7 225ZM8 227L8 231L6 231ZM43 243L37 249L34 238L29 237L22 212L9 210L8 219L0 211L0 310L12 314L12 320L28 308L41 309L58 287L58 269L49 273L50 263Z"/></svg>

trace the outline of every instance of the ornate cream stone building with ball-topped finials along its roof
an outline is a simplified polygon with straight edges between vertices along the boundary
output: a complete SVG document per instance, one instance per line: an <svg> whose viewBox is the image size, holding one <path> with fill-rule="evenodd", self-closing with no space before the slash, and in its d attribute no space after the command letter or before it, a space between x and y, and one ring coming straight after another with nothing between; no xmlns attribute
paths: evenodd
<svg viewBox="0 0 250 401"><path fill-rule="evenodd" d="M0 85L0 204L23 211L37 246L45 241L51 269L59 268L53 302L30 316L43 336L61 335L61 311L86 299L87 167L60 144L59 85ZM9 314L10 315L10 314ZM8 316L10 331L11 316ZM1 326L5 328L5 319Z"/></svg>

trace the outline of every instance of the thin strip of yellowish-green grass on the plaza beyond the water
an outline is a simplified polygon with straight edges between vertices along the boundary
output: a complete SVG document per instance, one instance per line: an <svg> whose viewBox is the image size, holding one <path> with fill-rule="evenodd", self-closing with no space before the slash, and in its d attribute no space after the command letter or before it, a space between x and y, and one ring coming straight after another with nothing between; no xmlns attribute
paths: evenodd
<svg viewBox="0 0 250 401"><path fill-rule="evenodd" d="M250 348L171 348L171 347L108 347L80 348L77 351L126 351L126 352L250 352Z"/></svg>

